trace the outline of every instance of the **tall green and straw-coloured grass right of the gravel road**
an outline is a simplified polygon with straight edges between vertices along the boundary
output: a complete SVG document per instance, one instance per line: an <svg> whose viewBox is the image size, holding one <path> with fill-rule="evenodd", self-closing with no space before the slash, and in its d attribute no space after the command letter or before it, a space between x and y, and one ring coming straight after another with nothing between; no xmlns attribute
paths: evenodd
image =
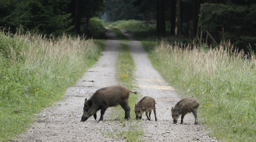
<svg viewBox="0 0 256 142"><path fill-rule="evenodd" d="M144 43L144 45L147 43ZM193 47L193 48L192 48ZM150 54L159 73L204 107L209 134L225 141L256 140L256 59L230 42L219 48L186 48L162 42Z"/></svg>

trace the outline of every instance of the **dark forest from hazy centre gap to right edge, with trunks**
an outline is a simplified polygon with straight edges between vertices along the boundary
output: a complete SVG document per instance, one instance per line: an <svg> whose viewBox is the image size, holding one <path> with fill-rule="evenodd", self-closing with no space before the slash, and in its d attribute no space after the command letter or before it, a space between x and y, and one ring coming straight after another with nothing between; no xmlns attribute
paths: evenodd
<svg viewBox="0 0 256 142"><path fill-rule="evenodd" d="M247 53L256 50L255 17L256 0L106 0L102 20L144 20L158 35L192 40L202 30L202 42L230 39Z"/></svg>

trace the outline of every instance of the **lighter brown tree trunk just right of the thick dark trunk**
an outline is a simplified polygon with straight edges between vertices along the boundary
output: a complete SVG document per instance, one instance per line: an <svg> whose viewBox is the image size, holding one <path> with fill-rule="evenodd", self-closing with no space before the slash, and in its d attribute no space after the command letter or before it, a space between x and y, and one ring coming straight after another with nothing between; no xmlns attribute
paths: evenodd
<svg viewBox="0 0 256 142"><path fill-rule="evenodd" d="M181 0L176 3L175 36L181 35Z"/></svg>

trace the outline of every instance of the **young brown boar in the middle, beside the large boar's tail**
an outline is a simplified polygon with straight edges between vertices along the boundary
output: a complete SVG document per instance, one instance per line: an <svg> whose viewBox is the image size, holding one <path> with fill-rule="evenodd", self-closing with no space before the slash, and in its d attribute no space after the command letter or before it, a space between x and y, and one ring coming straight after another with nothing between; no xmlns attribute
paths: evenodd
<svg viewBox="0 0 256 142"><path fill-rule="evenodd" d="M136 114L136 120L141 119L141 114L146 111L146 116L148 120L150 121L150 115L151 111L153 109L154 114L155 114L155 121L157 121L156 117L156 101L149 96L143 97L137 104L134 106L134 111Z"/></svg>

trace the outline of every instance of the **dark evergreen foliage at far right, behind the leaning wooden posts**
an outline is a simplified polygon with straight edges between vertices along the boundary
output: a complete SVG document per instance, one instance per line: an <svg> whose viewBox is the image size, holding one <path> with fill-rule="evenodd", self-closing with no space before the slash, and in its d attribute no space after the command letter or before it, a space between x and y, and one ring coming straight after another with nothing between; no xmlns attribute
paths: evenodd
<svg viewBox="0 0 256 142"><path fill-rule="evenodd" d="M239 5L238 5L239 4ZM216 31L223 37L231 39L237 47L246 52L256 50L256 2L235 1L226 4L209 4L201 6L199 25L203 30ZM249 44L250 45L249 45Z"/></svg>

